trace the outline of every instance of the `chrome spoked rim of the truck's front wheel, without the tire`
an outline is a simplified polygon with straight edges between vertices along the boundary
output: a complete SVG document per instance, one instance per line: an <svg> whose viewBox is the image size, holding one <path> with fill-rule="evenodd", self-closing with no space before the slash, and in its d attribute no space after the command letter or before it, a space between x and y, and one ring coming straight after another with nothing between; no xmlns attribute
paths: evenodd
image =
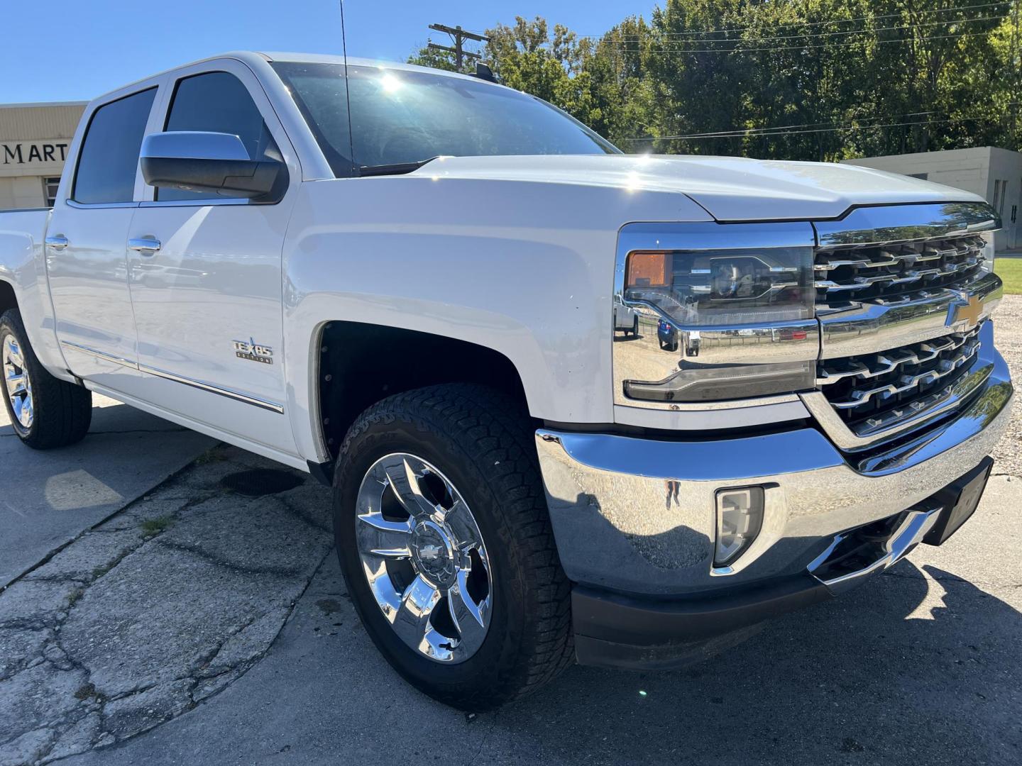
<svg viewBox="0 0 1022 766"><path fill-rule="evenodd" d="M490 628L493 574L455 486L421 458L387 454L366 472L356 502L362 571L394 632L436 662L474 655Z"/></svg>

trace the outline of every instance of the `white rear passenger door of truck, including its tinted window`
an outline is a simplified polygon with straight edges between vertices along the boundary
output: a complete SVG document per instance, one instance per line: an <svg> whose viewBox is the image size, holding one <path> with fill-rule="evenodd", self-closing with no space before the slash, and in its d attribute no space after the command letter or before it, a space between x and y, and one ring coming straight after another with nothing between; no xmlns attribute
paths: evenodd
<svg viewBox="0 0 1022 766"><path fill-rule="evenodd" d="M75 375L118 390L138 377L125 241L155 95L148 88L92 113L74 179L47 230L46 268L64 360Z"/></svg>

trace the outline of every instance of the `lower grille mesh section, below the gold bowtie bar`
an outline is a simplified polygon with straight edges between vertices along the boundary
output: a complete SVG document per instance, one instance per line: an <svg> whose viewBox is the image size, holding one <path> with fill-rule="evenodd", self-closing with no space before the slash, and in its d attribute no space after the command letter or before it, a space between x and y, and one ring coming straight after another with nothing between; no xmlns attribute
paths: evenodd
<svg viewBox="0 0 1022 766"><path fill-rule="evenodd" d="M981 327L876 353L826 360L818 366L817 385L856 435L884 431L953 395L979 355Z"/></svg>

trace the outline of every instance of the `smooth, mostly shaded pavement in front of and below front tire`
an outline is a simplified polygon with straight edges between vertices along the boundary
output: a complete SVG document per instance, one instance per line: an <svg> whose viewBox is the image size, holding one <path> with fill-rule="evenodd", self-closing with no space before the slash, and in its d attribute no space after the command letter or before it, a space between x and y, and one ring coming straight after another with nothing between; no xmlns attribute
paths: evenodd
<svg viewBox="0 0 1022 766"><path fill-rule="evenodd" d="M670 673L575 667L495 714L414 691L327 558L269 653L221 695L75 766L1018 764L1022 480L841 600ZM998 558L1003 557L1003 558Z"/></svg>

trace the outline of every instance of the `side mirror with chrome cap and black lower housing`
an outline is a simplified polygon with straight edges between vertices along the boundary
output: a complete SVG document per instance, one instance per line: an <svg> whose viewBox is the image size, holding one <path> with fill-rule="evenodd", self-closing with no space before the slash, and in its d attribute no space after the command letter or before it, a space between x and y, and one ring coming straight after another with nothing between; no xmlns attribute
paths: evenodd
<svg viewBox="0 0 1022 766"><path fill-rule="evenodd" d="M270 195L287 178L283 162L251 159L241 139L229 133L153 133L142 142L141 164L150 186L256 201L275 201Z"/></svg>

